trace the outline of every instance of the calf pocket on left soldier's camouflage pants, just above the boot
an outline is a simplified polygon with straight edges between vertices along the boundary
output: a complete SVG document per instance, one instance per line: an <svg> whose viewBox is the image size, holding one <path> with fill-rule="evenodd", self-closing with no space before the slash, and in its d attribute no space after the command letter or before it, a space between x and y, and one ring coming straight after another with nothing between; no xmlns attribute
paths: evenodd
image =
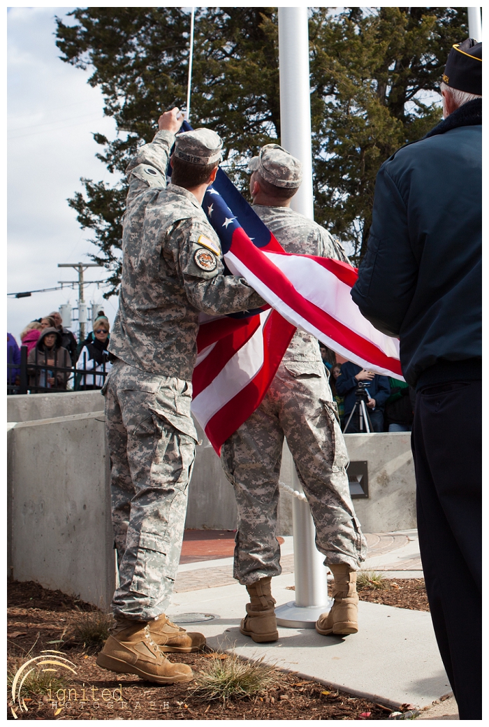
<svg viewBox="0 0 489 727"><path fill-rule="evenodd" d="M131 590L157 598L161 589L161 575L165 571L169 541L159 533L141 533L137 547L136 565Z"/></svg>

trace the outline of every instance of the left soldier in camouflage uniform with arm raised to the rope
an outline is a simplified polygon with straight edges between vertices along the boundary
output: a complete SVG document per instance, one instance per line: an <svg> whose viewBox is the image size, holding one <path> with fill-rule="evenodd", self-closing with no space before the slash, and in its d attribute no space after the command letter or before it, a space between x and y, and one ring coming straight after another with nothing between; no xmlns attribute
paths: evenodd
<svg viewBox="0 0 489 727"><path fill-rule="evenodd" d="M193 678L163 652L205 639L166 619L177 574L197 433L190 417L198 316L264 305L244 278L224 276L219 238L201 202L222 140L209 129L179 134L178 109L127 169L119 308L105 394L119 585L116 626L97 657L107 669L157 683ZM171 146L172 183L166 188ZM190 191L192 190L192 191Z"/></svg>

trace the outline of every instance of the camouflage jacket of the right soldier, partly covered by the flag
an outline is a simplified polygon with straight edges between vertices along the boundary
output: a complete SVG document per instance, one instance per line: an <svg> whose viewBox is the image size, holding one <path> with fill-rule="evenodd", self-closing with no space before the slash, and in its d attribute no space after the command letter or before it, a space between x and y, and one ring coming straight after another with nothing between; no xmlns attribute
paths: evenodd
<svg viewBox="0 0 489 727"><path fill-rule="evenodd" d="M254 204L254 211L267 225L286 252L319 257L334 257L349 262L344 249L328 230L294 212L290 207ZM321 361L318 340L304 331L296 331L283 361Z"/></svg>

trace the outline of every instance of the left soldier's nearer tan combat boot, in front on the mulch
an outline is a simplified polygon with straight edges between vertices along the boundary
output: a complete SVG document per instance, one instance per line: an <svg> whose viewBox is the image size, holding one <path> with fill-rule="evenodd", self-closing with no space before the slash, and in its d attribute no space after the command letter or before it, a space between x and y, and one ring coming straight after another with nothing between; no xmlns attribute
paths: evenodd
<svg viewBox="0 0 489 727"><path fill-rule="evenodd" d="M193 679L187 664L171 664L154 643L145 621L120 616L97 656L97 664L119 674L137 674L158 684L173 684Z"/></svg>

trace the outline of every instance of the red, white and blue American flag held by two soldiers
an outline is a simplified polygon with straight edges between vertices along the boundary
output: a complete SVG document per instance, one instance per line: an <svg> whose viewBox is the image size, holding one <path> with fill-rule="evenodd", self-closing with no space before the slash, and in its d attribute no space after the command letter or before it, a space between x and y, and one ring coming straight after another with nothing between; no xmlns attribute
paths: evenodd
<svg viewBox="0 0 489 727"><path fill-rule="evenodd" d="M185 122L182 131L192 127ZM299 326L376 374L403 379L399 341L373 328L350 297L357 270L283 250L222 169L203 198L226 272L243 276L270 308L201 316L192 413L217 454L267 392Z"/></svg>

